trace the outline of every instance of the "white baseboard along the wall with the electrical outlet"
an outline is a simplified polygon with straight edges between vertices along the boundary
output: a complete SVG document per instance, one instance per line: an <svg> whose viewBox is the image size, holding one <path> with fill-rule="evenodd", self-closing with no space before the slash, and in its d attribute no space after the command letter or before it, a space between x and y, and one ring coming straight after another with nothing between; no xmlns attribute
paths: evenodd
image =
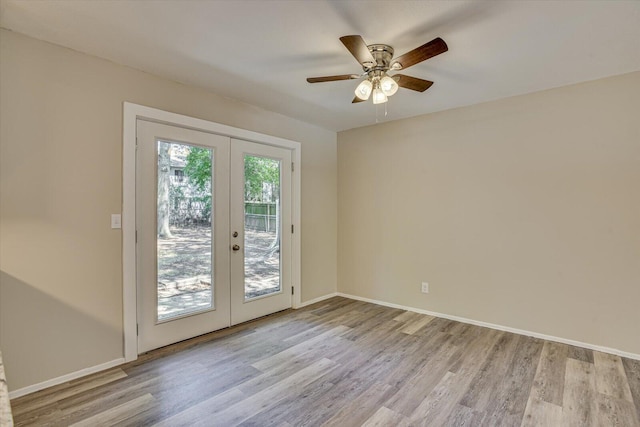
<svg viewBox="0 0 640 427"><path fill-rule="evenodd" d="M379 301L379 300L374 300L374 299L370 299L370 298L363 298L363 297L359 297L359 296L356 296L356 295L344 294L342 292L337 292L336 295L340 296L340 297L344 297L344 298L357 300L357 301L370 302L372 304L382 305L382 306L385 306L385 307L399 308L399 309L402 309L402 310L413 311L415 313L428 314L430 316L435 316L435 317L442 317L443 319L455 320L456 322L468 323L470 325L483 326L485 328L497 329L499 331L511 332L513 334L526 335L526 336L529 336L529 337L540 338L540 339L547 340L547 341L554 341L554 342L559 342L559 343L562 343L562 344L573 345L573 346L576 346L576 347L588 348L589 350L595 350L595 351L600 351L600 352L603 352L603 353L615 354L616 356L626 357L628 359L640 360L640 354L629 353L627 351L622 351L622 350L618 350L618 349L615 349L615 348L603 347L603 346L600 346L600 345L589 344L589 343L580 342L580 341L574 341L574 340L570 340L570 339L567 339L567 338L554 337L552 335L545 335L545 334L540 334L538 332L525 331L523 329L516 329L516 328L511 328L509 326L496 325L494 323L487 323L487 322L482 322L482 321L479 321L479 320L467 319L467 318L464 318L464 317L451 316L449 314L438 313L438 312L429 311L429 310L422 310L420 308L415 308L415 307L407 307L407 306L400 305L400 304L393 304L393 303L390 303L390 302Z"/></svg>

